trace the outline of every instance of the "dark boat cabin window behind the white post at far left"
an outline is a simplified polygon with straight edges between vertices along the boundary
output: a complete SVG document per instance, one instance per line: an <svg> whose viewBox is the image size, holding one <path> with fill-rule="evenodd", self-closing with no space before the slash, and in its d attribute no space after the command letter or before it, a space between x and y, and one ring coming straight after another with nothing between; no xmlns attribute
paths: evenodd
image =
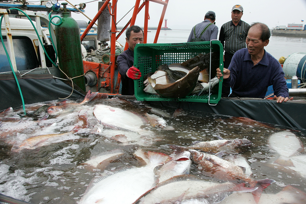
<svg viewBox="0 0 306 204"><path fill-rule="evenodd" d="M4 45L8 51L6 36L3 36ZM30 70L38 67L38 59L31 39L13 36L13 46L17 70ZM0 43L0 72L12 71L2 43Z"/></svg>

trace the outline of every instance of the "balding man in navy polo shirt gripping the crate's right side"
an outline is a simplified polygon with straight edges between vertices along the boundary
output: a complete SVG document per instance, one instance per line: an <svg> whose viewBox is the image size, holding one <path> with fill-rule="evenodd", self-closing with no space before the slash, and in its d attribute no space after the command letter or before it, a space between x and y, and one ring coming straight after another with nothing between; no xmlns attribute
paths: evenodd
<svg viewBox="0 0 306 204"><path fill-rule="evenodd" d="M289 100L282 66L264 50L269 38L270 30L266 24L252 24L246 38L247 48L234 54L229 68L223 69L223 75L217 69L217 77L223 76L224 85L232 87L229 97L264 98L268 87L273 85L273 99L280 103Z"/></svg>

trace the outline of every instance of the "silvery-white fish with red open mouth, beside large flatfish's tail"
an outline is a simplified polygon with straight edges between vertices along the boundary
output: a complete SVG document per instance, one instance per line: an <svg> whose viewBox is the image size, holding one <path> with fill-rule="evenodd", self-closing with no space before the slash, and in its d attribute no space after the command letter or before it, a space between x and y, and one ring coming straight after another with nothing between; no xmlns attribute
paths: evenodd
<svg viewBox="0 0 306 204"><path fill-rule="evenodd" d="M173 176L189 174L190 165L190 152L184 151L178 155L172 156L172 159L160 166L155 174L159 176L159 183L161 183Z"/></svg>

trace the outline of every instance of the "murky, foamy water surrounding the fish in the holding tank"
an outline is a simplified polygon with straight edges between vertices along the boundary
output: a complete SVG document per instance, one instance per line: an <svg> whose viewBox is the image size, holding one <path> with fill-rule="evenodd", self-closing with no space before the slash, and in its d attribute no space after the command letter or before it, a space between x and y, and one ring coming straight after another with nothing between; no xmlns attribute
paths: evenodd
<svg viewBox="0 0 306 204"><path fill-rule="evenodd" d="M46 102L46 104L54 103ZM31 116L34 110L29 110L27 112L29 118L25 118L22 122L3 122L0 128L0 191L5 195L31 203L74 204L80 200L95 176L129 165L138 166L139 161L133 155L136 150L157 151L170 155L173 154L173 150L168 147L168 144L189 146L196 141L215 140L216 136L221 136L224 139L244 138L252 141L251 147L239 155L249 162L252 178L269 178L276 181L267 187L265 192L274 194L287 185L306 192L306 172L304 171L306 164L303 161L306 160L305 152L297 152L297 156L292 158L293 162L298 164L295 165L294 170L298 172L295 175L274 169L269 165L279 157L279 154L267 145L268 138L276 132L283 131L284 127L248 124L209 113L186 112L174 118L172 116L174 109L161 108L165 114L168 114L167 116L171 116L163 117L163 119L174 130L154 128L149 123L144 123L142 128L150 131L154 137L145 135L134 140L128 137L134 132L127 132L126 137L123 137L124 133L106 129L99 124L93 115L96 104L120 107L139 114L149 111L140 102L129 104L113 99L100 99L83 106L76 106L69 111L64 110L57 115L49 115L46 120L38 122L37 119L47 113L34 117ZM44 104L34 105L37 109ZM25 148L18 152L11 151L13 145L18 145L31 136L61 134L71 131L76 125L82 126L83 122L78 119L78 116L85 112L88 113L88 127L80 128L78 132L65 138L49 141L50 143L41 147ZM18 118L18 116L15 114L14 117ZM293 133L305 146L305 132ZM124 141L120 142L119 137L122 137L120 139ZM99 169L88 171L80 165L91 156L114 149L122 149L124 154L110 163L104 171ZM290 167L286 168L290 169ZM203 174L203 168L194 164L191 166L190 174L212 179ZM118 193L120 192L114 192L114 196Z"/></svg>

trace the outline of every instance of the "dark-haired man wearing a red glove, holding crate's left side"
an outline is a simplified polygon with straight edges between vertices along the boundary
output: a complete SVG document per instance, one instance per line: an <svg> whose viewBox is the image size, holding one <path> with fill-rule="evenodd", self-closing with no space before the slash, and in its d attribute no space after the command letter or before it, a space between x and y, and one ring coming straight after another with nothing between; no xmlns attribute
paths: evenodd
<svg viewBox="0 0 306 204"><path fill-rule="evenodd" d="M138 43L144 43L144 32L137 25L132 25L125 32L129 48L117 57L118 70L121 75L121 94L134 95L134 79L141 77L139 69L134 67L134 48Z"/></svg>

